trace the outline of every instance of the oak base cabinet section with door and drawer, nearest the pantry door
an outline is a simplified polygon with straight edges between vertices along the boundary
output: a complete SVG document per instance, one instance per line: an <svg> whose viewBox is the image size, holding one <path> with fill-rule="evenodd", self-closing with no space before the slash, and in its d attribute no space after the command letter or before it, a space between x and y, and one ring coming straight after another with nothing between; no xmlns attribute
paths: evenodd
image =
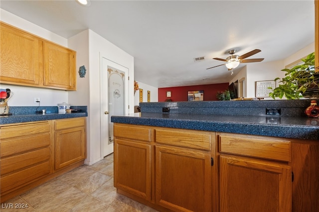
<svg viewBox="0 0 319 212"><path fill-rule="evenodd" d="M54 121L55 169L60 169L85 159L85 118Z"/></svg>

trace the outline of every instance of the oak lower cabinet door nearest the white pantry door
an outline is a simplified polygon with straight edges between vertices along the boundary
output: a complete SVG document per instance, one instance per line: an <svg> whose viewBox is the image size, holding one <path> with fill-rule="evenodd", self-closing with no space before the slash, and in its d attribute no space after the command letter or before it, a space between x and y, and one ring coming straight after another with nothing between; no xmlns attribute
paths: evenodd
<svg viewBox="0 0 319 212"><path fill-rule="evenodd" d="M85 159L85 127L55 132L55 169Z"/></svg>

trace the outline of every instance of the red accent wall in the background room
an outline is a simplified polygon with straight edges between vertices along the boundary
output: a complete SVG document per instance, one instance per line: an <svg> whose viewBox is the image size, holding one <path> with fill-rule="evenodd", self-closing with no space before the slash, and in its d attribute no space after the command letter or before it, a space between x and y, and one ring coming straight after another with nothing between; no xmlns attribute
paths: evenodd
<svg viewBox="0 0 319 212"><path fill-rule="evenodd" d="M228 89L229 83L199 85L199 86L183 86L183 87L170 87L159 88L159 102L165 102L167 99L171 99L172 102L187 102L188 91L204 91L204 101L217 100L217 92L224 92ZM166 97L166 91L171 92L171 98Z"/></svg>

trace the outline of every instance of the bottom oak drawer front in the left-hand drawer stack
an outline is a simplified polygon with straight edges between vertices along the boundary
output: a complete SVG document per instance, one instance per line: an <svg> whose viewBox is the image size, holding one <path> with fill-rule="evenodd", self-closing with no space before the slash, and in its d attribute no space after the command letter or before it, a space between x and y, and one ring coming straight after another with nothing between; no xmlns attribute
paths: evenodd
<svg viewBox="0 0 319 212"><path fill-rule="evenodd" d="M34 182L40 177L50 174L50 162L44 162L36 166L15 172L13 174L1 177L0 179L0 193L5 194L12 189L20 188L24 185Z"/></svg>

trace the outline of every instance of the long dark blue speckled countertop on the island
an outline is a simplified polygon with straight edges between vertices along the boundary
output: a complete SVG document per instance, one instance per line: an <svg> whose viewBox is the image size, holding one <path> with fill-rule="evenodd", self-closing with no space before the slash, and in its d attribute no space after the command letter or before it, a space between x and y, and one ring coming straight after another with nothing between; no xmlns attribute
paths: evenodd
<svg viewBox="0 0 319 212"><path fill-rule="evenodd" d="M319 118L140 112L112 122L283 138L319 140Z"/></svg>

